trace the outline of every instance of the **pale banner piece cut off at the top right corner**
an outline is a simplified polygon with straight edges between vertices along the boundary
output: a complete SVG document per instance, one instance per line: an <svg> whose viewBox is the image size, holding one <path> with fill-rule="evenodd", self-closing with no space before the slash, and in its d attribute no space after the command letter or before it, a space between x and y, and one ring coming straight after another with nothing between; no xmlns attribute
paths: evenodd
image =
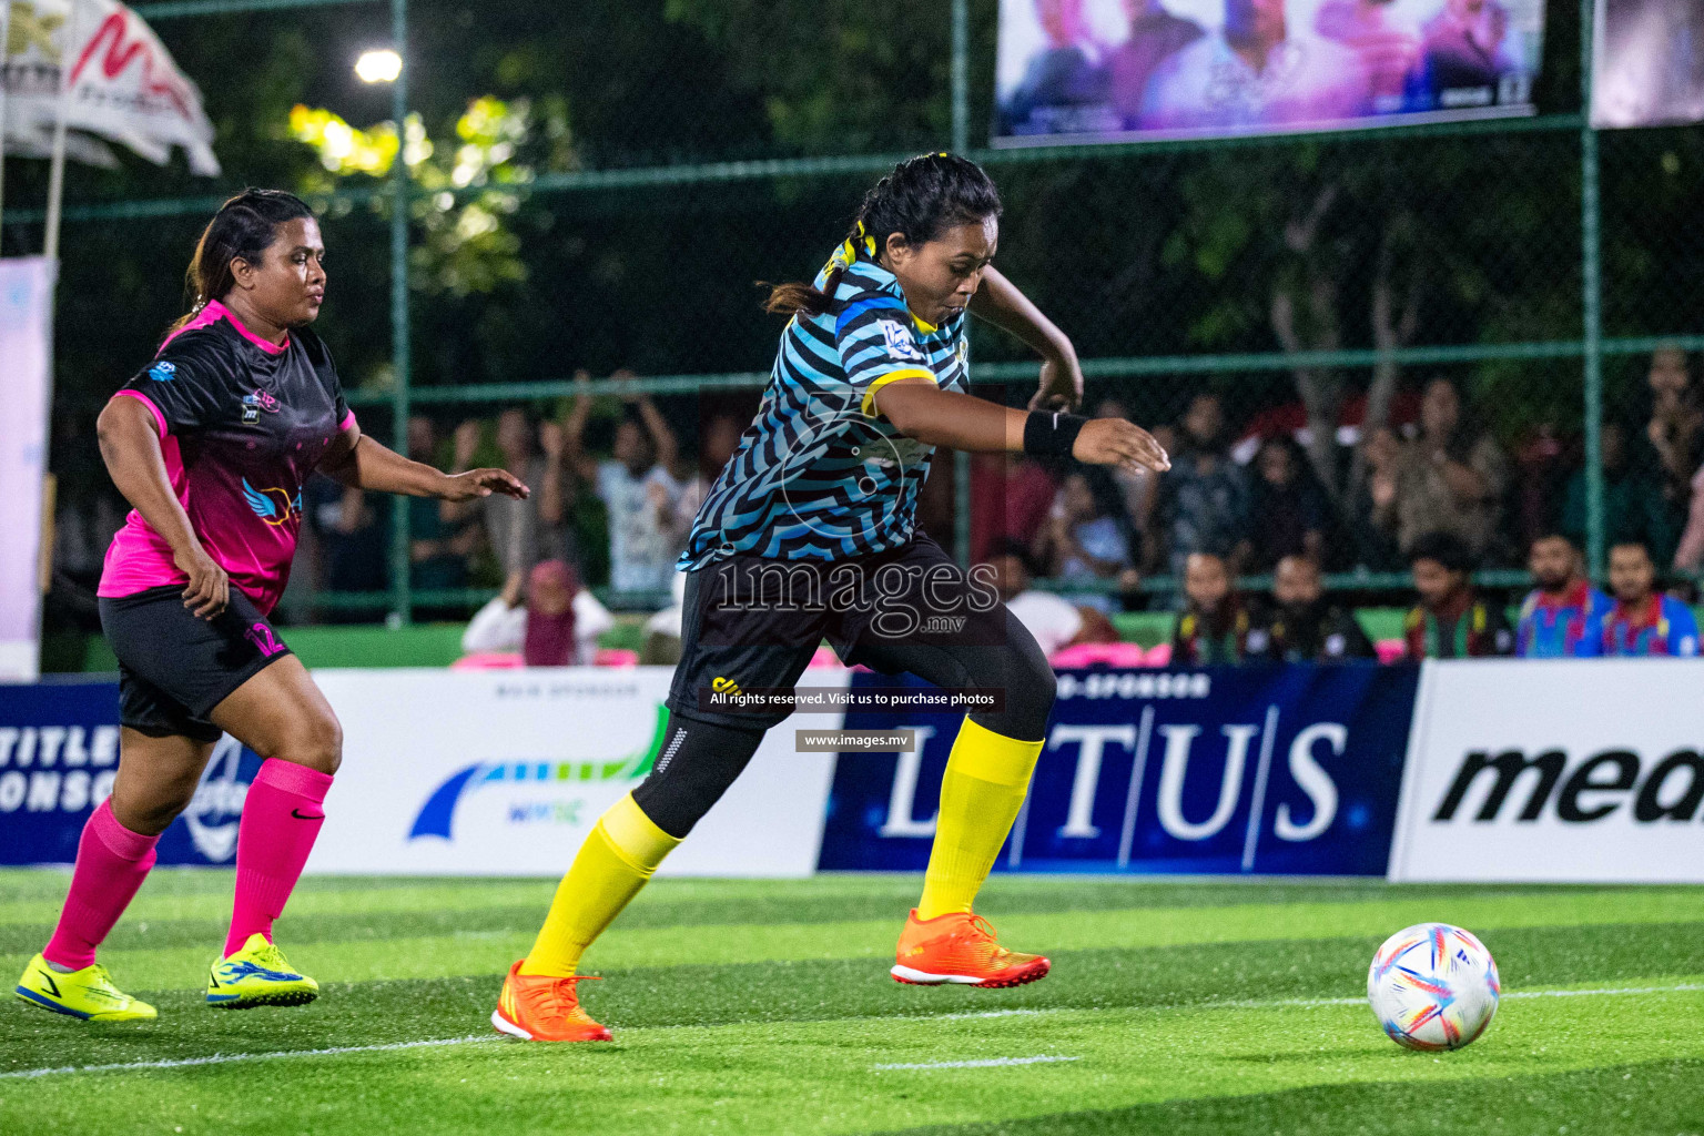
<svg viewBox="0 0 1704 1136"><path fill-rule="evenodd" d="M1597 0L1592 124L1704 121L1704 5L1697 0Z"/></svg>

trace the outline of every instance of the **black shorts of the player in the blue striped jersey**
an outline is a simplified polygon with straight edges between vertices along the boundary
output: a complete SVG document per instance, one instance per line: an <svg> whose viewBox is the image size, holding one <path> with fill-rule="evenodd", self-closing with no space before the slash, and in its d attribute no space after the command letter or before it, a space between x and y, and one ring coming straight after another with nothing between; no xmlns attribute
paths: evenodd
<svg viewBox="0 0 1704 1136"><path fill-rule="evenodd" d="M733 555L688 572L682 606L666 705L743 729L769 729L789 710L717 710L709 693L791 688L823 639L847 666L896 674L917 671L930 647L1004 647L1014 627L1024 635L992 581L968 576L922 533L850 560Z"/></svg>

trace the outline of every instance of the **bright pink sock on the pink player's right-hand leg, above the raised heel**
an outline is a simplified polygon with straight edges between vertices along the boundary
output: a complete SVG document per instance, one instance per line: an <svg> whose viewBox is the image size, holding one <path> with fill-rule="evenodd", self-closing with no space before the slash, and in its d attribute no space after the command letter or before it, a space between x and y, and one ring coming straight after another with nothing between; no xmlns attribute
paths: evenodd
<svg viewBox="0 0 1704 1136"><path fill-rule="evenodd" d="M237 901L230 913L225 957L242 950L249 935L273 938L276 920L308 862L314 838L325 823L325 790L331 773L293 761L268 758L261 763L242 802L237 828Z"/></svg>

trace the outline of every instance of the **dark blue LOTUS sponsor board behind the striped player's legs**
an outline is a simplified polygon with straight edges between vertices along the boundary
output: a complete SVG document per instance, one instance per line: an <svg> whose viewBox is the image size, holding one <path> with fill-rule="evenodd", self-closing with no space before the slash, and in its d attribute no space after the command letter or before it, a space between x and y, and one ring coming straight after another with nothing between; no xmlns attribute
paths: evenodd
<svg viewBox="0 0 1704 1136"><path fill-rule="evenodd" d="M995 870L1384 875L1418 681L1370 663L1062 671ZM849 731L915 729L918 751L838 756L820 870L927 865L958 722L847 714Z"/></svg>

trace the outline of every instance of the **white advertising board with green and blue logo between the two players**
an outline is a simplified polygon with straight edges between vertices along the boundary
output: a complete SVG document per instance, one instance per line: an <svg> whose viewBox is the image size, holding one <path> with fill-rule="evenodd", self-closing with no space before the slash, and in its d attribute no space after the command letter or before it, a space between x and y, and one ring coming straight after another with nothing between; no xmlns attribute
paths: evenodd
<svg viewBox="0 0 1704 1136"><path fill-rule="evenodd" d="M671 668L315 671L344 729L308 872L557 875L649 770ZM806 686L845 686L808 671ZM809 875L835 754L769 732L728 795L663 863L675 875Z"/></svg>

